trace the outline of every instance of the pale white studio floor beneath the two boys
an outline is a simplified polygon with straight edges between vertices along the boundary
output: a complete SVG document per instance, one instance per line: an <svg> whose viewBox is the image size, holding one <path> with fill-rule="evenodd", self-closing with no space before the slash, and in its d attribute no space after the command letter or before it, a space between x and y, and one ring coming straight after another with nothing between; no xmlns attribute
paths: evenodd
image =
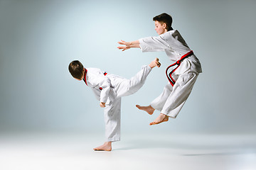
<svg viewBox="0 0 256 170"><path fill-rule="evenodd" d="M0 134L1 170L256 169L256 135L122 134L112 152L100 135Z"/></svg>

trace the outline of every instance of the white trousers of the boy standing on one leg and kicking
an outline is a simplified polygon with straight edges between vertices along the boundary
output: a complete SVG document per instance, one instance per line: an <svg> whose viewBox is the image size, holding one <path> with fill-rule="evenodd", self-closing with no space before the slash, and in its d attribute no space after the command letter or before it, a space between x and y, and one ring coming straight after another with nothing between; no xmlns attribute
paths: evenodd
<svg viewBox="0 0 256 170"><path fill-rule="evenodd" d="M120 140L120 118L121 118L121 98L134 94L142 88L146 81L146 77L151 72L151 67L143 66L142 69L131 79L124 79L114 74L107 74L111 81L114 97L107 101L104 110L105 118L105 136L107 142ZM111 94L110 94L111 96ZM113 95L112 95L113 96ZM111 97L110 97L111 98Z"/></svg>

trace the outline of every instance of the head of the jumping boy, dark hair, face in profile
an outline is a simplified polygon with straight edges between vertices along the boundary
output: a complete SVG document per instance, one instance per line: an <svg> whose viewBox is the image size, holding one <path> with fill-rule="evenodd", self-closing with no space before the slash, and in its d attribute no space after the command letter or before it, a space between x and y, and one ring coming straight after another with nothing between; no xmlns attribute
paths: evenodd
<svg viewBox="0 0 256 170"><path fill-rule="evenodd" d="M155 16L153 18L153 21L155 21L155 30L156 33L159 35L166 33L169 30L173 30L171 27L172 24L172 18L167 13L161 13L158 16Z"/></svg>

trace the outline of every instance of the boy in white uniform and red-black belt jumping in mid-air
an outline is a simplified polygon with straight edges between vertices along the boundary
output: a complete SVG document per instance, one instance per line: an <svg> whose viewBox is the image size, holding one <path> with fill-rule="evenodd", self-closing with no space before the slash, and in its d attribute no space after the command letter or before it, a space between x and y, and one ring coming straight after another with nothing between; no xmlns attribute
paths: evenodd
<svg viewBox="0 0 256 170"><path fill-rule="evenodd" d="M158 37L142 38L132 42L121 40L124 45L119 50L128 50L131 47L141 48L142 52L165 51L170 60L174 61L166 69L169 84L164 91L150 103L149 106L137 108L152 115L155 110L161 111L160 115L149 125L159 124L176 118L186 102L198 74L202 72L201 64L193 51L188 47L178 30L171 27L172 18L167 13L161 13L153 18Z"/></svg>

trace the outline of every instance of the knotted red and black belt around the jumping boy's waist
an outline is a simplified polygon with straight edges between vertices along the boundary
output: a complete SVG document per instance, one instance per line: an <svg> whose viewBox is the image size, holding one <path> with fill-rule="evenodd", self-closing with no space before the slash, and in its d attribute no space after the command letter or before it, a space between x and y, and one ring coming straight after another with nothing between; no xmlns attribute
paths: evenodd
<svg viewBox="0 0 256 170"><path fill-rule="evenodd" d="M166 68L166 77L169 80L171 86L174 86L174 84L176 82L174 80L174 78L171 77L171 74L173 74L175 72L175 70L178 69L178 67L181 65L182 60L184 60L186 57L189 57L191 55L193 55L192 50L190 52L186 53L185 55L183 55L180 60L178 60L174 64L169 65L169 67Z"/></svg>

